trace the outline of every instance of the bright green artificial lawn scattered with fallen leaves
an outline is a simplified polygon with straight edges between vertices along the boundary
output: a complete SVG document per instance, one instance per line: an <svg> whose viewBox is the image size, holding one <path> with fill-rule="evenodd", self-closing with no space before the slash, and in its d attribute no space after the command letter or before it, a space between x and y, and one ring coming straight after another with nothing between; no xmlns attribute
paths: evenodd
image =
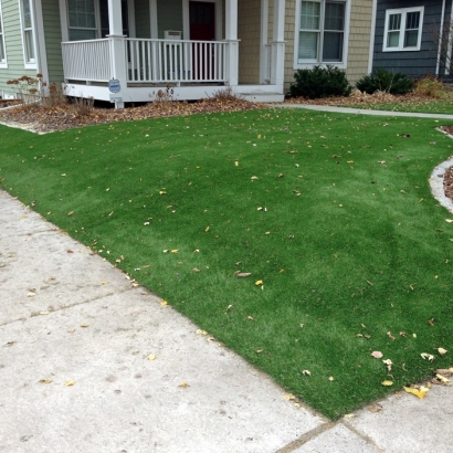
<svg viewBox="0 0 453 453"><path fill-rule="evenodd" d="M452 365L436 126L302 109L0 126L0 181L336 419Z"/></svg>

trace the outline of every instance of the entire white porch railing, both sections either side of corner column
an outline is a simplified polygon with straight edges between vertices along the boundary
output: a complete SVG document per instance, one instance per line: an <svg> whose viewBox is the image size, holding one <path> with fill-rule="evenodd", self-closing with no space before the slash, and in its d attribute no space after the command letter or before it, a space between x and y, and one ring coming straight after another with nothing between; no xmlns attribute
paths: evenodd
<svg viewBox="0 0 453 453"><path fill-rule="evenodd" d="M124 39L127 83L221 83L228 81L223 41ZM62 43L65 80L108 82L113 77L113 41Z"/></svg>

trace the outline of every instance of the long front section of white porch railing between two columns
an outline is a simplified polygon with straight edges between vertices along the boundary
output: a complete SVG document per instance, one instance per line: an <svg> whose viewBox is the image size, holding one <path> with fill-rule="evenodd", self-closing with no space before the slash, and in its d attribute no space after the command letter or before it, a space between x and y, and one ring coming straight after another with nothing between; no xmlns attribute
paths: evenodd
<svg viewBox="0 0 453 453"><path fill-rule="evenodd" d="M128 83L227 81L227 42L126 39Z"/></svg>

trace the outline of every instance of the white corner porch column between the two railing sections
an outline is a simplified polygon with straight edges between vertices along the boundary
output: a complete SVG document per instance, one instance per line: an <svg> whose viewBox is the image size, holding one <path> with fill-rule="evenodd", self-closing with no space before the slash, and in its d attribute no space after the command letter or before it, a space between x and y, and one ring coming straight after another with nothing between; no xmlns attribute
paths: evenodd
<svg viewBox="0 0 453 453"><path fill-rule="evenodd" d="M119 81L122 91L117 95L123 94L127 88L127 61L126 48L123 34L123 19L122 19L122 0L108 0L108 27L110 41L110 73L112 78ZM124 108L124 102L115 102L115 108Z"/></svg>

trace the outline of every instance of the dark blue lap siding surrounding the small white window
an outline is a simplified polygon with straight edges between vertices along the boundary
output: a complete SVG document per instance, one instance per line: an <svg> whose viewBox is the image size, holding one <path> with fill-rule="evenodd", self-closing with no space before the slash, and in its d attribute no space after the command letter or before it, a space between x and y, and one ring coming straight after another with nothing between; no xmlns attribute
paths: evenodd
<svg viewBox="0 0 453 453"><path fill-rule="evenodd" d="M451 0L446 18L450 17ZM382 52L383 32L386 27L386 11L399 8L424 7L422 42L420 51ZM442 17L442 0L398 0L378 1L376 17L376 39L373 50L373 67L383 67L393 72L408 75L423 76L435 73L438 59L438 43L433 36L432 28L440 29Z"/></svg>

